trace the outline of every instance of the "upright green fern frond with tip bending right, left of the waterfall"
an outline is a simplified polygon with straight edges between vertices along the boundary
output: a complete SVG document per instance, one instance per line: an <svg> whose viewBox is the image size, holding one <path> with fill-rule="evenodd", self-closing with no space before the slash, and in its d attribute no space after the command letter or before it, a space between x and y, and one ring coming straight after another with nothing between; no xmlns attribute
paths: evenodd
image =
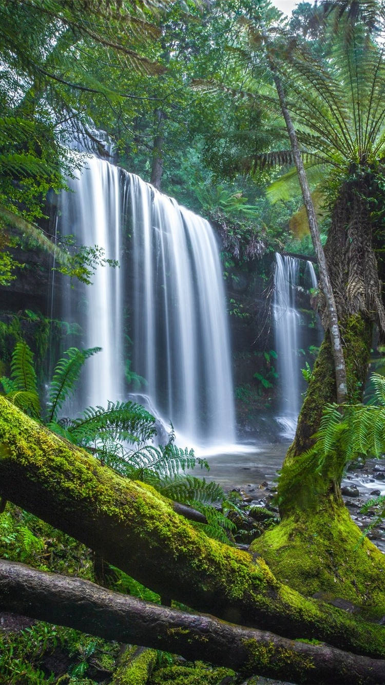
<svg viewBox="0 0 385 685"><path fill-rule="evenodd" d="M100 351L101 347L90 347L88 349L70 347L64 352L66 357L62 357L56 364L53 378L49 384L47 423L56 420L64 401L74 392L75 383L79 379L84 362L88 357Z"/></svg>

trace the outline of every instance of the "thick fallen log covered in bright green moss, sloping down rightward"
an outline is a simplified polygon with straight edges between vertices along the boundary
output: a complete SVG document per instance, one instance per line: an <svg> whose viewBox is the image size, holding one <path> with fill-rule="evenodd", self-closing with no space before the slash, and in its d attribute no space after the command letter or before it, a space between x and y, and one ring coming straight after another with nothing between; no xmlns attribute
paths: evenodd
<svg viewBox="0 0 385 685"><path fill-rule="evenodd" d="M2 397L0 412L0 496L195 610L385 656L383 627L302 597L262 559L210 540L153 488L119 476Z"/></svg>

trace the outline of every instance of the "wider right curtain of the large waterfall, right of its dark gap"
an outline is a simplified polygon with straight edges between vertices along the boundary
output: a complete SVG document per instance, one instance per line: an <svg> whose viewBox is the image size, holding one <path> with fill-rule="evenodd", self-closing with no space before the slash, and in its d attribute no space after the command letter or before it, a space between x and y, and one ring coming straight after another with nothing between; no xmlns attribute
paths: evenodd
<svg viewBox="0 0 385 685"><path fill-rule="evenodd" d="M165 421L234 443L225 295L210 224L131 175L134 360Z"/></svg>

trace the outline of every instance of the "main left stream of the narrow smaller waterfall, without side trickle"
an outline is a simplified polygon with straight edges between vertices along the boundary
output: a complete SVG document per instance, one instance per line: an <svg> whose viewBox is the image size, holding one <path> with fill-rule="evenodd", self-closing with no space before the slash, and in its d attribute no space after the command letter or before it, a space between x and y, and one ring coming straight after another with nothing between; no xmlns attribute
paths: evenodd
<svg viewBox="0 0 385 685"><path fill-rule="evenodd" d="M280 379L280 416L277 416L277 421L282 425L282 435L287 438L295 434L300 403L298 275L299 260L275 254L273 319Z"/></svg>

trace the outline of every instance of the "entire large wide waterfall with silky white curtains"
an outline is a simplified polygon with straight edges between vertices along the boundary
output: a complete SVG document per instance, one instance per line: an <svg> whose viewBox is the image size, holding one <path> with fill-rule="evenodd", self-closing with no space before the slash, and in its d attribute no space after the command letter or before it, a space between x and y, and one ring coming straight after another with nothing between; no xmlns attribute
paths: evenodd
<svg viewBox="0 0 385 685"><path fill-rule="evenodd" d="M75 297L66 293L64 314L82 325L82 345L103 348L86 362L77 409L127 397L123 338L129 336L132 370L146 382L140 393L164 423L172 421L190 445L234 443L225 294L210 224L93 156L69 186L62 232L103 247L120 264L98 267L93 285L77 288Z"/></svg>

